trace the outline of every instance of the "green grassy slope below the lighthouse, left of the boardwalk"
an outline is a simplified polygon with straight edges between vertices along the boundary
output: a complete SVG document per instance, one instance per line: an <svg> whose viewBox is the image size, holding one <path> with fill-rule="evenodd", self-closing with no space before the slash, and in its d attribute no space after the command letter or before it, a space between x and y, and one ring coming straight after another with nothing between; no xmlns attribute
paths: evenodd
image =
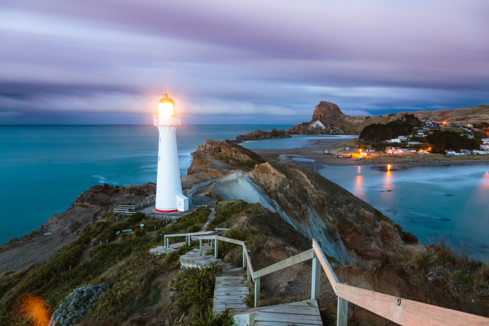
<svg viewBox="0 0 489 326"><path fill-rule="evenodd" d="M17 313L20 303L24 297L30 294L37 294L44 298L50 312L55 311L59 304L73 289L100 283L103 279L112 285L108 292L110 296L104 296L101 304L94 310L97 318L104 319L107 316L118 315L120 318L128 318L131 314L140 311L143 307L151 305L157 291L151 288L152 275L155 267L145 266L146 261L152 261L149 249L156 247L163 242L164 234L186 232L186 230L200 229L207 221L210 209L199 207L194 212L183 215L168 227L165 221L151 221L151 228L159 227L161 236L151 238L145 231L138 226L145 219L144 214L134 214L124 222L116 222L111 219L102 219L85 227L78 237L70 244L60 249L42 264L31 265L18 273L3 273L0 275L0 324L1 325L27 325L29 321L26 317ZM118 238L115 233L121 229L133 229L135 232L130 234L120 234ZM96 247L83 249L91 242L109 239L114 242L102 243ZM194 248L185 246L179 251L167 257L161 268L172 268L172 262L178 258L179 254ZM78 263L83 250L90 250L90 258L82 263ZM134 266L132 273L128 270L126 274L119 277L108 277L114 266L119 266L121 262L131 259L139 259L139 266ZM71 270L70 270L71 266ZM123 277L126 275L127 277ZM134 279L130 275L137 275ZM124 281L121 281L124 280ZM142 286L144 285L144 286ZM134 292L133 289L143 288L143 292ZM151 293L153 293L151 295ZM117 309L116 309L117 308ZM109 317L107 317L110 319ZM122 320L119 319L119 320ZM92 319L94 320L94 319Z"/></svg>

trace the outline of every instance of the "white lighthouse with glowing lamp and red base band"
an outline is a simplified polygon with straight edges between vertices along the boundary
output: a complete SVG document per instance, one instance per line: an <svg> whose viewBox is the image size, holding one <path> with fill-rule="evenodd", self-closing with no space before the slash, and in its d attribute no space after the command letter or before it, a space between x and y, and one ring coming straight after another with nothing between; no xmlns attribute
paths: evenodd
<svg viewBox="0 0 489 326"><path fill-rule="evenodd" d="M159 100L158 116L154 125L159 131L158 170L156 175L156 212L183 212L188 210L188 198L183 196L178 166L177 127L175 102L168 97Z"/></svg>

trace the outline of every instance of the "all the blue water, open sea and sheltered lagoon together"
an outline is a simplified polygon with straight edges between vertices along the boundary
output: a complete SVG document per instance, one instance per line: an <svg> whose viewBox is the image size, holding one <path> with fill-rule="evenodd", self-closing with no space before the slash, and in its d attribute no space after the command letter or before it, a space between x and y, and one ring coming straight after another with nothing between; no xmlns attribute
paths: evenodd
<svg viewBox="0 0 489 326"><path fill-rule="evenodd" d="M287 127L181 126L177 132L180 171L186 174L190 153L204 139L234 139L255 129ZM295 148L324 137L351 138L294 135L241 145ZM94 184L155 182L157 141L154 126L0 126L0 243L38 228ZM489 164L398 168L317 164L316 171L424 243L435 243L443 236L454 248L487 261Z"/></svg>

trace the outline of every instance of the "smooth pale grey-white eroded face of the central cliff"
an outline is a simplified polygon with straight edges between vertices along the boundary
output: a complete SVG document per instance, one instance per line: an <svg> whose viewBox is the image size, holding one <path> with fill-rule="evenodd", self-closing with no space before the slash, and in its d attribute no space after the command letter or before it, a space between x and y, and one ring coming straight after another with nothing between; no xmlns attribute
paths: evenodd
<svg viewBox="0 0 489 326"><path fill-rule="evenodd" d="M249 173L232 171L216 182L212 191L223 199L241 199L248 203L259 203L270 211L278 213L304 236L320 239L321 248L328 256L340 262L352 261L338 235L328 235L321 231L325 229L324 221L315 211L311 210L310 218L302 223L291 219L280 205L250 178Z"/></svg>

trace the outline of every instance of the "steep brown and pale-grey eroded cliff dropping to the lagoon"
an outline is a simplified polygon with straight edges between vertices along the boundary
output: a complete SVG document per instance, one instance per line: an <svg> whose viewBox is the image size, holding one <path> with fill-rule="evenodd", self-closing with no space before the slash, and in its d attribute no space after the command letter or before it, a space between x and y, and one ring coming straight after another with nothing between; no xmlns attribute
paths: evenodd
<svg viewBox="0 0 489 326"><path fill-rule="evenodd" d="M211 143L215 148L221 142ZM202 151L206 151L205 146L198 148L195 156L200 156ZM249 153L235 155L248 157ZM256 162L263 160L255 155ZM189 172L206 174L219 169L215 162L212 167L199 167L204 170L198 171L195 166ZM324 252L341 263L382 264L388 251L417 242L387 216L302 165L270 160L253 169L220 171L224 172L226 176L209 187L208 196L260 203L308 238L321 239Z"/></svg>

